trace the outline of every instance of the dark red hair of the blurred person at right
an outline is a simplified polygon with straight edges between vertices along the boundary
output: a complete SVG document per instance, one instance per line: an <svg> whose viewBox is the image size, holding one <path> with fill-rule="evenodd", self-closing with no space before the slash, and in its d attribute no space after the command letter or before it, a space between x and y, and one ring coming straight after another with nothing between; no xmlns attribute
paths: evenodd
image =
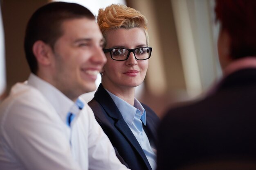
<svg viewBox="0 0 256 170"><path fill-rule="evenodd" d="M230 35L231 57L256 56L256 0L216 0L215 12Z"/></svg>

